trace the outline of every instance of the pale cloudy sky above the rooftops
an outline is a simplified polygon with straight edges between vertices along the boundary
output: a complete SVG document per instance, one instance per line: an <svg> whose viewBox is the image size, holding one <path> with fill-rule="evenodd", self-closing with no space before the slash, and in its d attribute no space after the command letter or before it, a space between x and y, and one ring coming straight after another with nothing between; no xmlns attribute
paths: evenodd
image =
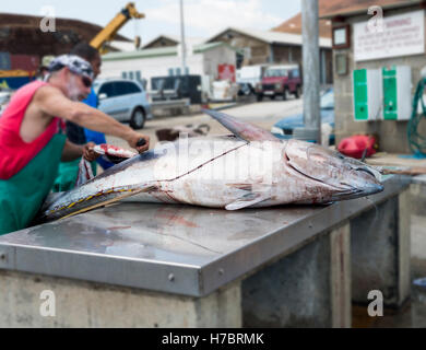
<svg viewBox="0 0 426 350"><path fill-rule="evenodd" d="M49 7L58 18L79 19L106 25L126 5L123 0L15 0L2 1L1 12L42 15ZM143 20L128 22L119 32L142 44L159 34L180 35L179 0L140 0ZM226 26L269 30L300 11L300 0L184 0L185 33L205 37ZM46 9L45 9L46 10Z"/></svg>

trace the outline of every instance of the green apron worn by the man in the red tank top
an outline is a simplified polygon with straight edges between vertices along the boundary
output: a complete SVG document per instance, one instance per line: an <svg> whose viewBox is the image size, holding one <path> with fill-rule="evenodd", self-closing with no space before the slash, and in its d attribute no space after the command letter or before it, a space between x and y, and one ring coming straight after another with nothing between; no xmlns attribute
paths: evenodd
<svg viewBox="0 0 426 350"><path fill-rule="evenodd" d="M31 224L50 192L64 142L64 135L55 135L23 170L0 179L0 235Z"/></svg>

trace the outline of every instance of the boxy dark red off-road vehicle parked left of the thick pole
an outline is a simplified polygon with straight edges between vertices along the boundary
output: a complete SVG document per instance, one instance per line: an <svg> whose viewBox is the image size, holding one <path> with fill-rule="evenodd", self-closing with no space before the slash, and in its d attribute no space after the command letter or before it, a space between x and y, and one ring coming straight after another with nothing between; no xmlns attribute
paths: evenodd
<svg viewBox="0 0 426 350"><path fill-rule="evenodd" d="M300 71L296 65L268 67L262 81L256 85L258 101L262 101L264 96L271 100L282 96L287 100L291 94L296 98L301 94Z"/></svg>

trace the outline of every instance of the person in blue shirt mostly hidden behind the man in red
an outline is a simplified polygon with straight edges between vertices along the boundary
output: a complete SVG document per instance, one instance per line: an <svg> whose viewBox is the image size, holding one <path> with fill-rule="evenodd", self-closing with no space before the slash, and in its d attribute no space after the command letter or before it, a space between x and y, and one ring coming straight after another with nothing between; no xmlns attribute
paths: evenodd
<svg viewBox="0 0 426 350"><path fill-rule="evenodd" d="M100 55L87 43L80 43L74 46L70 55L79 56L90 62L93 68L94 79L100 74ZM82 102L93 108L97 108L98 101L93 86L87 98ZM96 144L106 143L105 135L102 132L82 128L72 121L67 121L66 127L67 138L75 144L84 144L86 142L94 142ZM114 165L114 163L110 163L103 158L98 158L96 162L102 166L103 170L107 170ZM92 171L94 175L96 175L96 162L92 162ZM62 162L59 165L58 176L55 179L54 191L66 191L73 188L75 186L78 174L79 160L72 162Z"/></svg>

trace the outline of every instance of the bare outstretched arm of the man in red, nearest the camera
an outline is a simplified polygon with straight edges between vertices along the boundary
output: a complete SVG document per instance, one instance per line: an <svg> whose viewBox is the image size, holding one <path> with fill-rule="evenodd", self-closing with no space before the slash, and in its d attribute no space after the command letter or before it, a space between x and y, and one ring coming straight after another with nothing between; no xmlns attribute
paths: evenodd
<svg viewBox="0 0 426 350"><path fill-rule="evenodd" d="M135 132L105 113L83 103L67 98L60 90L54 86L43 86L35 95L35 102L43 113L75 122L86 129L104 132L126 140L139 152L150 148L150 138ZM145 139L145 145L137 147L138 141Z"/></svg>

